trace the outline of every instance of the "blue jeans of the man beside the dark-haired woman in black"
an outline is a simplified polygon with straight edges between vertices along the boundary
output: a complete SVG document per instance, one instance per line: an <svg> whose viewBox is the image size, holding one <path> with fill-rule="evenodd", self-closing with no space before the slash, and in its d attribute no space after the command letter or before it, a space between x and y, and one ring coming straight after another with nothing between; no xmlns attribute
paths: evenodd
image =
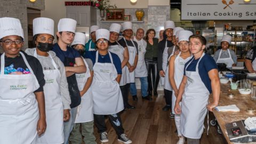
<svg viewBox="0 0 256 144"><path fill-rule="evenodd" d="M148 96L148 77L140 77L141 83L141 95L142 97ZM135 83L130 83L130 92L132 95L137 95L137 89Z"/></svg>

